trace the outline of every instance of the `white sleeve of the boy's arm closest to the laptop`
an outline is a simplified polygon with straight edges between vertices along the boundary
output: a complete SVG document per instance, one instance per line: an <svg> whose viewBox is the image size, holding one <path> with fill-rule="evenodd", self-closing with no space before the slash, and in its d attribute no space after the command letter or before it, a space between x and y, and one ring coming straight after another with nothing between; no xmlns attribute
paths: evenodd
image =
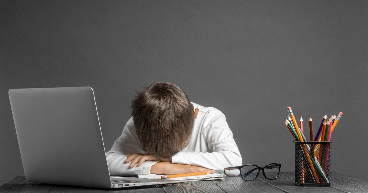
<svg viewBox="0 0 368 193"><path fill-rule="evenodd" d="M133 119L130 118L125 125L121 136L116 139L113 147L106 153L110 175L122 174L150 174L152 165L157 161L145 161L141 166L130 168L130 162L125 163L128 154L145 153L135 132Z"/></svg>

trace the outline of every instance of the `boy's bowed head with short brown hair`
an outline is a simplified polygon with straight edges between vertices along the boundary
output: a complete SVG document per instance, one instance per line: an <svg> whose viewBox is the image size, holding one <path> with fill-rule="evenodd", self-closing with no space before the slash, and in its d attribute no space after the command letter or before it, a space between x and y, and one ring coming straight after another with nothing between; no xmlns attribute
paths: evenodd
<svg viewBox="0 0 368 193"><path fill-rule="evenodd" d="M187 95L169 82L146 87L132 101L132 116L142 148L156 158L168 158L185 148L194 124Z"/></svg>

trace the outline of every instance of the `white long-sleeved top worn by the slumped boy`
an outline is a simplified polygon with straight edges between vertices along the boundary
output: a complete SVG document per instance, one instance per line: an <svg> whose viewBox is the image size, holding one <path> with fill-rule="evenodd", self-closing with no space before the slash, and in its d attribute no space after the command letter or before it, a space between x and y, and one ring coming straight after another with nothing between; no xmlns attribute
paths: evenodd
<svg viewBox="0 0 368 193"><path fill-rule="evenodd" d="M239 149L227 125L225 115L216 108L192 104L199 112L194 121L191 139L185 149L171 157L172 162L220 171L226 167L242 165ZM133 153L146 152L142 149L142 144L135 132L133 118L130 118L121 136L106 153L110 175L150 174L152 165L157 161L145 161L139 167L136 165L129 168L130 163L125 164L124 160L127 158L126 155ZM230 173L230 175L238 174L239 171Z"/></svg>

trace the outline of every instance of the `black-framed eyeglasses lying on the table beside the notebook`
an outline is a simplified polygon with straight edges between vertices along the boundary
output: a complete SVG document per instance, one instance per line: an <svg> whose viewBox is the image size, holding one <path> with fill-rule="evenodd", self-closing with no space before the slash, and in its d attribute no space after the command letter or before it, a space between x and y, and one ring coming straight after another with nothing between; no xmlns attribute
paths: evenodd
<svg viewBox="0 0 368 193"><path fill-rule="evenodd" d="M229 173L230 170L239 169L241 178L245 181L252 181L258 177L259 172L262 169L263 176L265 176L269 180L276 179L280 174L281 164L267 164L264 167L258 167L258 165L247 164L234 166L229 168L224 168L224 174Z"/></svg>

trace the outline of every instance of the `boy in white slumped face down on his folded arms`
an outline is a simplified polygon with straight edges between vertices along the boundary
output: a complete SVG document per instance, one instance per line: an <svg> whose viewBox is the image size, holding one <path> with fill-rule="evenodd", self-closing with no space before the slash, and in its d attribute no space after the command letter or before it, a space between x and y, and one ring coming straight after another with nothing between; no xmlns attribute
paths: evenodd
<svg viewBox="0 0 368 193"><path fill-rule="evenodd" d="M152 83L131 108L132 118L106 153L110 175L214 173L242 165L224 114L191 103L173 83Z"/></svg>

